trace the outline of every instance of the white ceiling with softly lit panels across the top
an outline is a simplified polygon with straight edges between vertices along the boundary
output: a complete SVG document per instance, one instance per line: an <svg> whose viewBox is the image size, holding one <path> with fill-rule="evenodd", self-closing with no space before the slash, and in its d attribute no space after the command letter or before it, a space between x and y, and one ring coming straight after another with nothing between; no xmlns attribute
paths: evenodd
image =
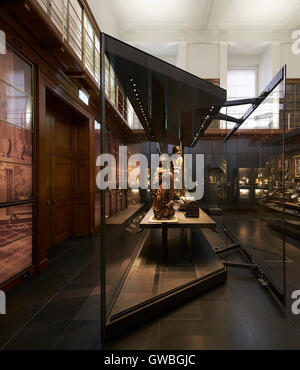
<svg viewBox="0 0 300 370"><path fill-rule="evenodd" d="M300 0L109 0L123 31L280 29L300 25Z"/></svg>

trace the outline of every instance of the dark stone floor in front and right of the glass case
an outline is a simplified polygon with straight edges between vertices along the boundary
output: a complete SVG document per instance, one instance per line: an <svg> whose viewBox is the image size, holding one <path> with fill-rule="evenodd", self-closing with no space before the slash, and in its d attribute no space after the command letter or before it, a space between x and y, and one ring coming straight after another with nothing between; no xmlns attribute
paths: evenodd
<svg viewBox="0 0 300 370"><path fill-rule="evenodd" d="M300 325L246 270L107 349L300 349Z"/></svg>

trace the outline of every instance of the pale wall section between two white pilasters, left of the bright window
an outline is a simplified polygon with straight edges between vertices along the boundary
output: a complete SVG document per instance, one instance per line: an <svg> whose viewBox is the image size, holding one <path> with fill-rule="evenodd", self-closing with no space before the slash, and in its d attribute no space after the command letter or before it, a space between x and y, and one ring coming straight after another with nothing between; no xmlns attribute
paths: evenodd
<svg viewBox="0 0 300 370"><path fill-rule="evenodd" d="M219 59L219 44L188 44L187 70L198 77L219 78Z"/></svg>

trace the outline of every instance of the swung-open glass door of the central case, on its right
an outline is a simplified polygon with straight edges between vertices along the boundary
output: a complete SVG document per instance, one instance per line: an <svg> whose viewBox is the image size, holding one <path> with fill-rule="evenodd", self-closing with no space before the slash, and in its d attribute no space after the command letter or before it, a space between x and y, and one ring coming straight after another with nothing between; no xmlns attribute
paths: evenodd
<svg viewBox="0 0 300 370"><path fill-rule="evenodd" d="M282 303L286 301L289 262L286 205L289 193L296 194L297 185L286 157L285 76L283 67L261 93L261 102L251 115L255 127L245 130L244 123L237 129L229 127L224 144L226 229L261 284L268 286Z"/></svg>

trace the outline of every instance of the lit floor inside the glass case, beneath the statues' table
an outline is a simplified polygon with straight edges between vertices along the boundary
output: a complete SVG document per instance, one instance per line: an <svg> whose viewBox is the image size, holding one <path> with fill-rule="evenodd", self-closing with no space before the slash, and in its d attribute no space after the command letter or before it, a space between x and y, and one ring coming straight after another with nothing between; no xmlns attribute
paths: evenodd
<svg viewBox="0 0 300 370"><path fill-rule="evenodd" d="M161 230L150 230L131 266L113 306L112 315L223 269L201 230L170 229L168 248L161 246Z"/></svg>

